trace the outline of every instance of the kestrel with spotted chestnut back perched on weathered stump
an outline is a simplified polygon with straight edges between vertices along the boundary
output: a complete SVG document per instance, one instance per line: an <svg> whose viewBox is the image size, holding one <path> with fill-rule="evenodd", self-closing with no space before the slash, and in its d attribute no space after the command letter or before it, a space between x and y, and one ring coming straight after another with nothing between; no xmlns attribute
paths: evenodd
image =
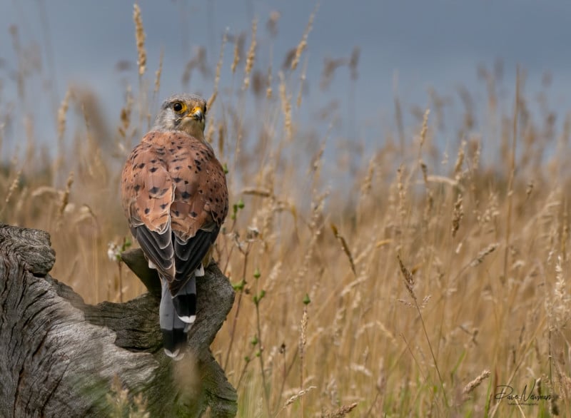
<svg viewBox="0 0 571 418"><path fill-rule="evenodd" d="M196 278L228 214L226 172L204 138L206 104L190 93L163 101L121 173L131 234L161 279L159 325L174 360L184 357L196 320Z"/></svg>

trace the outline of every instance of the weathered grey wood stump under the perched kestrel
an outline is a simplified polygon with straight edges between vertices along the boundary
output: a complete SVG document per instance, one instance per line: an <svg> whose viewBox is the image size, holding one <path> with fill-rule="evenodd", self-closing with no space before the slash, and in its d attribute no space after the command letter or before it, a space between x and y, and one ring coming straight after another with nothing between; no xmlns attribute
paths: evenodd
<svg viewBox="0 0 571 418"><path fill-rule="evenodd" d="M233 304L228 279L210 265L197 280L194 358L173 362L158 328L158 276L140 250L124 259L149 292L86 305L49 275L48 233L0 224L0 417L108 417L117 379L151 417L236 415L236 390L209 348Z"/></svg>

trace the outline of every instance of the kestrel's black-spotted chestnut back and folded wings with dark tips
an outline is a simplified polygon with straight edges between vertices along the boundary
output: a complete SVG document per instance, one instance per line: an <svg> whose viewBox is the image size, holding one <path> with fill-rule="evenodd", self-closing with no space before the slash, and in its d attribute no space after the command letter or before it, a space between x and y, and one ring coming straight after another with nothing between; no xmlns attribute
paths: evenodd
<svg viewBox="0 0 571 418"><path fill-rule="evenodd" d="M212 149L182 132L151 132L128 158L123 209L133 235L176 295L228 213L226 175Z"/></svg>

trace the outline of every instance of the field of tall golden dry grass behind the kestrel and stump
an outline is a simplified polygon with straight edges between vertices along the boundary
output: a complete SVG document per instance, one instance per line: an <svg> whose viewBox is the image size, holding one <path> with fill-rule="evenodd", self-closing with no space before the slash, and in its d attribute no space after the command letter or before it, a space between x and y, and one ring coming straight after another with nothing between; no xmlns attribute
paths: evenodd
<svg viewBox="0 0 571 418"><path fill-rule="evenodd" d="M60 104L52 149L37 145L34 118L9 155L6 123L0 130L0 221L49 231L51 274L89 303L143 292L108 258L131 240L121 165L163 98L160 66L144 68L135 21L139 86L126 91L117 122L105 121L116 124L111 135L101 136L89 86L70 88ZM316 111L300 93L310 38L283 68L255 69L256 30L243 46L226 39L211 68L206 128L231 193L216 259L237 292L213 352L238 389L240 416L565 416L566 110L535 106L525 71L499 96L489 71L487 106L457 103L453 138L440 137L438 106L403 117L396 96L394 132L378 132L372 151L339 141L333 158L323 152L330 131L296 123ZM356 72L358 51L338 64L331 73ZM231 73L231 88L218 89L221 72ZM25 72L18 81L25 86ZM82 122L73 131L71 114ZM526 399L497 399L502 387Z"/></svg>

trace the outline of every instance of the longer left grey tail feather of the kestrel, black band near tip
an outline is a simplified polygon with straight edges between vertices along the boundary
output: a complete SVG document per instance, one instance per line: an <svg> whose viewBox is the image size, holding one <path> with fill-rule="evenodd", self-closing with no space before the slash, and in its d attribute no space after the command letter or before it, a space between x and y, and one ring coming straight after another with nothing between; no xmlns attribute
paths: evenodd
<svg viewBox="0 0 571 418"><path fill-rule="evenodd" d="M186 323L176 315L173 305L173 297L168 290L166 280L161 280L162 297L158 310L159 323L163 333L163 347L166 355L174 360L181 360L184 357L186 346Z"/></svg>

